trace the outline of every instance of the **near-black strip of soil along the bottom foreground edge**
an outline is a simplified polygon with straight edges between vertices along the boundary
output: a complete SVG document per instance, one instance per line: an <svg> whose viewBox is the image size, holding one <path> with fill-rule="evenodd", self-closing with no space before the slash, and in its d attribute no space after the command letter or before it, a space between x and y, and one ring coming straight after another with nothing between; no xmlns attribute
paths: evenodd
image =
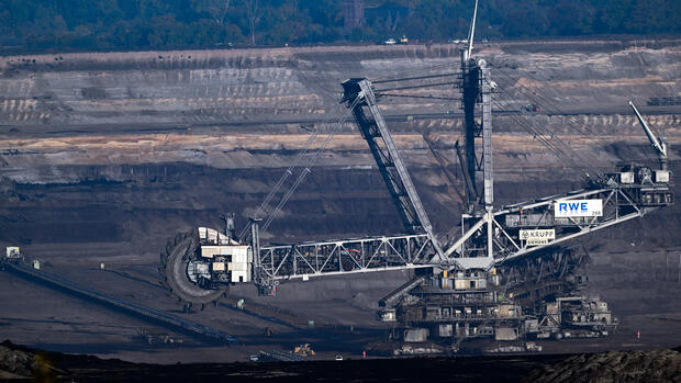
<svg viewBox="0 0 681 383"><path fill-rule="evenodd" d="M141 364L0 345L0 379L38 382L679 382L678 350L279 363Z"/></svg>

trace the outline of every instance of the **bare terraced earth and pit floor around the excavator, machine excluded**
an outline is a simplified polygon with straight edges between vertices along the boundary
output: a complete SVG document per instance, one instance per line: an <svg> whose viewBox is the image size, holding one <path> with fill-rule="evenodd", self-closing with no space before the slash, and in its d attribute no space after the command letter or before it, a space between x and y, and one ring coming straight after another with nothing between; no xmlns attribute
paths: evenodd
<svg viewBox="0 0 681 383"><path fill-rule="evenodd" d="M647 105L650 98L679 95L681 41L493 43L476 46L476 54L492 66L499 85L498 204L579 189L582 166L606 171L621 161L654 165L655 154L628 110L630 99L668 138L671 168L681 172L680 106ZM178 232L222 227L224 212L237 214L237 226L245 224L310 131L320 131L314 153L340 120L346 111L338 104L340 81L451 72L443 82L456 82L458 63L454 45L0 56L0 246L20 246L48 272L252 343L149 352L134 340L142 324L11 275L0 279L8 312L0 318L3 334L52 350L164 363L244 361L277 342L283 350L292 339L308 342L290 328L220 306L186 316L158 286L158 254ZM458 97L454 85L409 93ZM547 102L521 112L533 99ZM454 144L462 139L460 102L383 97L379 106L437 235L457 235L462 185ZM518 124L521 116L560 137L578 167L540 145ZM459 178L445 177L424 135ZM674 188L678 195L678 183ZM678 346L680 225L677 204L584 239L593 258L592 289L621 318L621 331L584 346L589 351ZM402 230L367 144L346 123L261 238L290 243ZM311 319L320 328L369 328L371 340L380 341L377 301L410 278L391 272L286 282L276 298L238 285L230 295L305 328ZM273 339L263 336L268 326L275 327ZM634 343L637 330L643 336ZM319 350L321 341L310 342ZM337 345L327 346L330 358ZM576 345L544 346L566 352Z"/></svg>

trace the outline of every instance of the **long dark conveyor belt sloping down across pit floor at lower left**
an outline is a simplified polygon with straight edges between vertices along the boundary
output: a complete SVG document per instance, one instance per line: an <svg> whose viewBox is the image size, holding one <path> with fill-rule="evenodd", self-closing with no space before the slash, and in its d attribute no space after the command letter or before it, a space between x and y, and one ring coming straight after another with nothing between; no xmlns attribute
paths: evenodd
<svg viewBox="0 0 681 383"><path fill-rule="evenodd" d="M201 324L198 324L191 320L187 320L179 316L170 315L170 314L164 313L161 311L158 311L152 307L145 307L136 303L121 300L119 297L99 292L97 290L83 288L81 285L78 285L63 278L46 273L41 270L30 268L21 262L0 261L0 263L4 267L5 270L18 273L22 277L40 280L42 282L45 282L48 285L52 285L52 286L55 286L62 290L66 290L70 293L74 293L82 297L94 300L98 303L102 303L102 304L119 308L129 314L135 314L135 315L142 316L143 318L150 319L156 323L170 325L185 333L198 335L201 337L206 337L206 338L217 340L220 342L225 342L225 343L231 343L231 342L236 341L235 337L226 333L223 333L221 330L206 327L204 325L201 325Z"/></svg>

